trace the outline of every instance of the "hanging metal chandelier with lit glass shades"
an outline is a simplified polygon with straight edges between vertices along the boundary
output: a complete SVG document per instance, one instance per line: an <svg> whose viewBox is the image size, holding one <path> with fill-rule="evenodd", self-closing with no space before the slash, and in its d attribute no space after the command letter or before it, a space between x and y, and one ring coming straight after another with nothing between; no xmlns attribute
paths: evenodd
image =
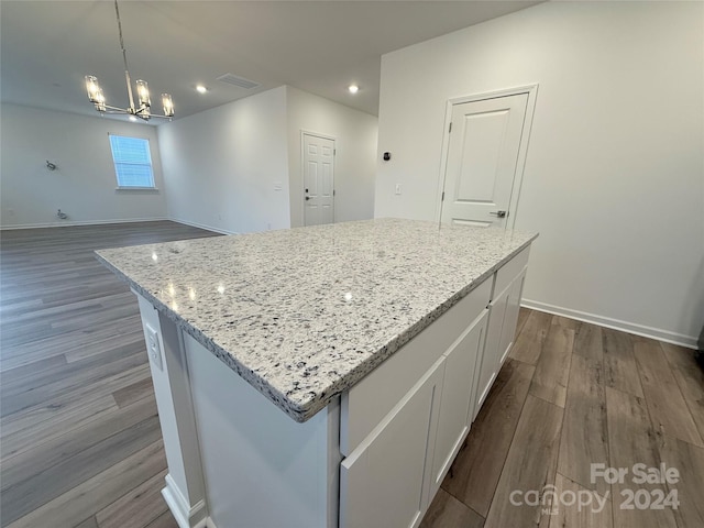
<svg viewBox="0 0 704 528"><path fill-rule="evenodd" d="M139 106L134 106L134 96L132 95L132 81L130 79L130 72L128 69L128 52L124 48L124 41L122 40L122 23L120 21L120 10L118 9L118 0L114 0L114 12L118 19L118 33L120 35L120 47L122 48L122 61L124 63L124 78L128 84L128 96L130 98L129 108L111 107L106 103L106 98L102 95L102 89L98 85L98 79L92 75L86 76L86 90L88 91L88 99L92 102L101 114L105 113L127 113L130 119L135 118L148 121L150 118L167 118L169 121L174 117L174 102L172 96L168 94L162 94L162 107L164 108L164 116L152 114L152 101L150 99L150 89L145 80L136 80L136 95L139 98Z"/></svg>

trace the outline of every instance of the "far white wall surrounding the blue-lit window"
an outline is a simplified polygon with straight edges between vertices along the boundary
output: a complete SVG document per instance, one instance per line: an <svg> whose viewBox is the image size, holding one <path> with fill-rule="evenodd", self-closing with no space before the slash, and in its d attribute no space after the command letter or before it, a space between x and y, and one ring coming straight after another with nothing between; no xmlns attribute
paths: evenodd
<svg viewBox="0 0 704 528"><path fill-rule="evenodd" d="M166 217L154 127L6 103L0 111L2 228ZM150 140L160 190L116 190L109 133ZM48 170L47 160L58 168ZM68 219L59 220L57 209Z"/></svg>

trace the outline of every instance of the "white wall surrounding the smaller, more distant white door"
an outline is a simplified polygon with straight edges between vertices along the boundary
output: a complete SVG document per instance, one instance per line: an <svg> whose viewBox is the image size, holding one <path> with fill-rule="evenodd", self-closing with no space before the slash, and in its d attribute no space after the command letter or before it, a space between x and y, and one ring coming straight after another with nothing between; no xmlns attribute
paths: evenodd
<svg viewBox="0 0 704 528"><path fill-rule="evenodd" d="M376 116L287 87L292 226L304 224L301 131L336 139L334 221L374 217Z"/></svg>

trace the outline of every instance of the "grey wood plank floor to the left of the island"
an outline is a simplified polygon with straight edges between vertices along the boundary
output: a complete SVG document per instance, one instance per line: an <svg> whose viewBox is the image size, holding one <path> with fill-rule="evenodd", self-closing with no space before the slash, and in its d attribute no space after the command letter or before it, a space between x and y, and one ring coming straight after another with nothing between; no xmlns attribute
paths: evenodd
<svg viewBox="0 0 704 528"><path fill-rule="evenodd" d="M0 524L177 528L134 295L101 248L212 237L174 222L3 231Z"/></svg>

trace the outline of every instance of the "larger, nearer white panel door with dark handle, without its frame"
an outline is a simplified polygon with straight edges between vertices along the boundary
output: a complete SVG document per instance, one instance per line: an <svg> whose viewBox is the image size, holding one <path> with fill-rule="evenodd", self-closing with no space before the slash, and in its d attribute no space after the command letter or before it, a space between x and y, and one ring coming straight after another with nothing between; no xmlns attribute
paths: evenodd
<svg viewBox="0 0 704 528"><path fill-rule="evenodd" d="M452 106L442 222L507 226L528 141L527 107L527 92Z"/></svg>

